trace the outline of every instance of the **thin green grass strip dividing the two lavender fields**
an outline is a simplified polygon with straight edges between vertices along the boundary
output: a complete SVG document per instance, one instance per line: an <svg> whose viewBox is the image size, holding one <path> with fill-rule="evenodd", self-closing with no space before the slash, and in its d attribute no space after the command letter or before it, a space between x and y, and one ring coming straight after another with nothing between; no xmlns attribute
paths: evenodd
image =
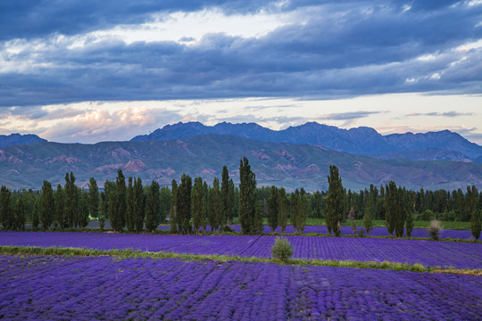
<svg viewBox="0 0 482 321"><path fill-rule="evenodd" d="M336 260L336 259L288 259L280 262L277 259L269 258L247 258L230 255L197 255L182 254L166 251L134 251L126 250L91 250L86 248L62 248L62 247L37 247L37 246L0 246L0 254L2 255L43 255L43 256L64 256L64 257L96 257L111 256L115 259L129 258L153 258L153 259L187 259L195 261L214 260L220 262L227 261L245 261L245 262L262 262L275 263L281 265L296 266L319 266L332 268L375 268L375 269L392 269L395 271L411 271L418 273L448 273L462 274L469 276L482 276L482 269L457 269L457 268L440 268L440 267L424 267L421 264L394 263L394 262L365 262L356 260Z"/></svg>

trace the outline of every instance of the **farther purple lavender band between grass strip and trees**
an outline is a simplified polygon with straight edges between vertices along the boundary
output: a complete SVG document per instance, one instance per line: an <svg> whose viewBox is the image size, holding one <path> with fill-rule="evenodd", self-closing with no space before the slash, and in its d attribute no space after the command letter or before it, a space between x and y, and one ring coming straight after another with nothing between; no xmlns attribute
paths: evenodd
<svg viewBox="0 0 482 321"><path fill-rule="evenodd" d="M294 258L390 261L425 267L482 268L482 244L404 239L293 236ZM0 232L0 245L133 249L270 258L271 235L134 235Z"/></svg>

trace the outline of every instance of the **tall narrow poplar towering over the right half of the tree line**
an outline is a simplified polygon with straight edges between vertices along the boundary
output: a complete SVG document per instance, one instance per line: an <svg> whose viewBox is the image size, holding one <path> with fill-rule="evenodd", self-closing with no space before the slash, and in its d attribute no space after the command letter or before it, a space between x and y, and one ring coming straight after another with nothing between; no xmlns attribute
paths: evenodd
<svg viewBox="0 0 482 321"><path fill-rule="evenodd" d="M328 197L326 202L326 222L328 233L341 235L340 222L344 210L342 179L338 175L338 168L335 165L329 167L328 176Z"/></svg>

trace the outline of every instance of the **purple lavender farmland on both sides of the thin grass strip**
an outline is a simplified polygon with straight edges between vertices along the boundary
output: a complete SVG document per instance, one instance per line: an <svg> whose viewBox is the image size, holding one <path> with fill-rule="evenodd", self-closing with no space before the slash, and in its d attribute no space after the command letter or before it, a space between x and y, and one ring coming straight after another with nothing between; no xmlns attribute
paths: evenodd
<svg viewBox="0 0 482 321"><path fill-rule="evenodd" d="M272 235L3 231L0 246L131 249L147 256L157 251L187 256L3 255L0 317L476 320L482 311L482 276L310 264L310 259L337 259L473 270L482 267L480 243L286 237L294 246L294 258L307 259L307 264L256 261L254 258L270 258ZM195 259L196 255L212 254L237 259Z"/></svg>

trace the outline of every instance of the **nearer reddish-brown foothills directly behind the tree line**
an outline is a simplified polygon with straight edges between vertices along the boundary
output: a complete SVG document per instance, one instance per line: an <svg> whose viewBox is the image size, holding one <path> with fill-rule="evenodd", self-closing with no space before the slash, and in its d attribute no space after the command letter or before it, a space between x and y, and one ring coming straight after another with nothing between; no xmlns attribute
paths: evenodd
<svg viewBox="0 0 482 321"><path fill-rule="evenodd" d="M224 165L238 182L239 161L244 156L250 161L258 185L285 186L288 190L302 186L308 191L327 190L329 165L337 165L343 185L353 190L389 180L412 189L482 187L482 164L477 162L384 160L333 151L322 145L216 134L167 141L6 146L0 148L0 185L39 188L45 179L63 185L63 177L70 171L80 186L87 186L89 177L96 177L99 185L104 185L105 179L115 180L117 169L122 169L126 177L141 177L145 184L155 179L161 185L170 185L182 173L212 183L213 177L220 177Z"/></svg>

